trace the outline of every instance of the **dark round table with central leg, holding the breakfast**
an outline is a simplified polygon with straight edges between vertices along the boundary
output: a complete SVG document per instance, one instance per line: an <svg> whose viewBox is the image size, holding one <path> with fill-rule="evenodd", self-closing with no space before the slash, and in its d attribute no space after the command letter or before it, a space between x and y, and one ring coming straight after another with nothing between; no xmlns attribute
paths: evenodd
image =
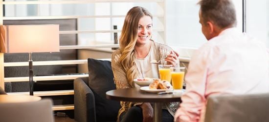
<svg viewBox="0 0 269 122"><path fill-rule="evenodd" d="M154 122L161 122L161 102L179 102L181 94L149 93L139 88L117 89L106 92L107 99L128 102L154 102Z"/></svg>

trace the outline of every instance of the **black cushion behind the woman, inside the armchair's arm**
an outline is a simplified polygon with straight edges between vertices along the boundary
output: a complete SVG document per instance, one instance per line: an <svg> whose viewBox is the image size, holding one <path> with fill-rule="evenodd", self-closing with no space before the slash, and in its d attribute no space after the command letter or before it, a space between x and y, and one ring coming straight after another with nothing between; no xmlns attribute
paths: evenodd
<svg viewBox="0 0 269 122"><path fill-rule="evenodd" d="M111 61L88 59L89 87L95 97L97 122L116 121L120 103L106 99L106 92L116 89Z"/></svg>

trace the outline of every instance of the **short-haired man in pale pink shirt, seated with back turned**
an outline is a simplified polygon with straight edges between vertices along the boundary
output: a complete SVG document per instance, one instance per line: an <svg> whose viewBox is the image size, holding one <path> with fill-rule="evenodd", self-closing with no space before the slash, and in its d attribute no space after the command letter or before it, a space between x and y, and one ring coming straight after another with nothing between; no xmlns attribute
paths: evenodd
<svg viewBox="0 0 269 122"><path fill-rule="evenodd" d="M208 40L193 55L175 122L203 122L211 95L269 92L265 44L238 31L230 0L201 0L199 17Z"/></svg>

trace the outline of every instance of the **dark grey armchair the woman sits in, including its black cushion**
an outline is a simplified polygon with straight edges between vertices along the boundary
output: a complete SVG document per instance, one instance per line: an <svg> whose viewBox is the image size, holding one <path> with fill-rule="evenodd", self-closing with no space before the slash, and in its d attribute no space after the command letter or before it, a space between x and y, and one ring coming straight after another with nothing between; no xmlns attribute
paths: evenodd
<svg viewBox="0 0 269 122"><path fill-rule="evenodd" d="M89 77L74 80L75 120L116 122L120 102L106 99L106 92L116 89L111 62L88 59L88 69Z"/></svg>

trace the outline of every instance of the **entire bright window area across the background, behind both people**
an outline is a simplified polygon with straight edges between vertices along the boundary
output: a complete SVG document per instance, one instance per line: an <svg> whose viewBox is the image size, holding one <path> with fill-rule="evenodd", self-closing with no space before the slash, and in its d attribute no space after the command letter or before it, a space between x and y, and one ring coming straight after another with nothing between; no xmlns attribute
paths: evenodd
<svg viewBox="0 0 269 122"><path fill-rule="evenodd" d="M8 0L12 1L12 0ZM78 0L79 1L79 0ZM232 0L237 11L237 27L242 30L242 0ZM153 19L154 37L157 42L173 45L183 57L190 57L206 42L199 23L197 0L164 0L162 2L98 2L87 4L16 4L5 5L5 17L25 16L121 16L78 18L78 30L93 33L79 33L78 44L113 43L113 26L118 35L123 25L124 15L133 6L147 8ZM165 6L163 6L165 3ZM247 0L247 33L264 41L269 47L269 1ZM165 10L164 10L165 9ZM259 13L259 14L257 14ZM165 19L163 19L165 17ZM258 21L258 22L257 22ZM165 24L165 25L164 25ZM157 25L157 26L155 26ZM107 33L97 31L106 30Z"/></svg>

